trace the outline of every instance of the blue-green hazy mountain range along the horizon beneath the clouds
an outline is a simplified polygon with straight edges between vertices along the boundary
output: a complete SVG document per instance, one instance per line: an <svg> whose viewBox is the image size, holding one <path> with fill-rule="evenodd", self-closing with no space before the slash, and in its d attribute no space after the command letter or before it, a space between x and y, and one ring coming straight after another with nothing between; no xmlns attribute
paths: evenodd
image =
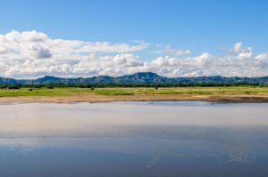
<svg viewBox="0 0 268 177"><path fill-rule="evenodd" d="M44 76L38 79L13 79L0 77L0 84L268 84L268 76L197 76L169 78L159 76L152 72L139 72L125 76L92 76L86 78Z"/></svg>

